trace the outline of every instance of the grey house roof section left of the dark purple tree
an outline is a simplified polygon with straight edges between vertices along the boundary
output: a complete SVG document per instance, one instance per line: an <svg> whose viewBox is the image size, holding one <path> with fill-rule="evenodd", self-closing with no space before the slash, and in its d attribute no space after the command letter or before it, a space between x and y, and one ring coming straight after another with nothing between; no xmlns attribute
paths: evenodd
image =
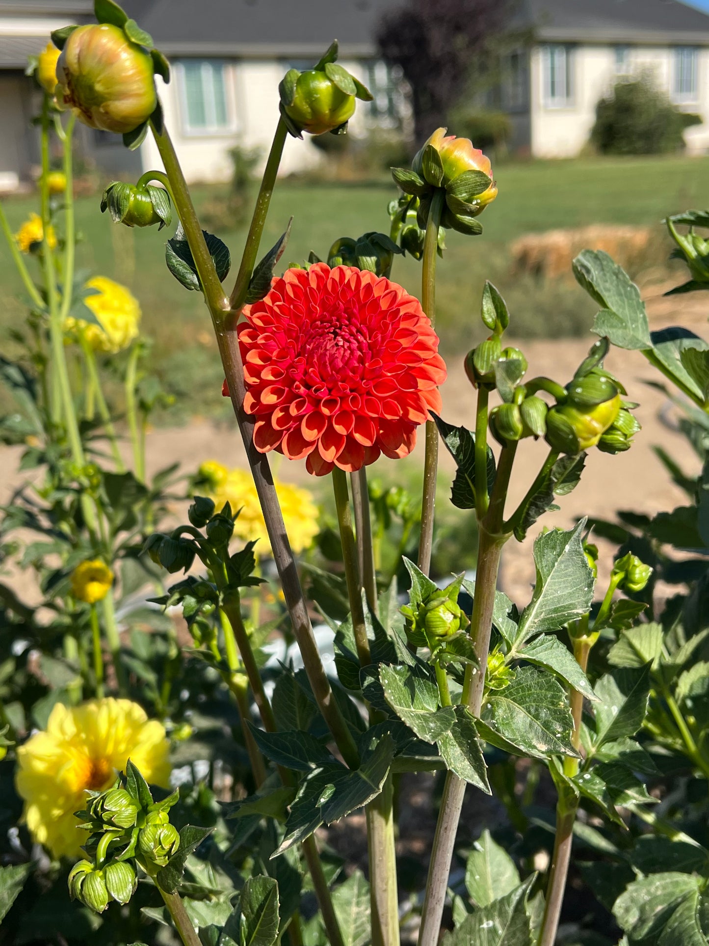
<svg viewBox="0 0 709 946"><path fill-rule="evenodd" d="M319 59L333 39L340 56L376 55L384 13L404 0L124 0L167 56Z"/></svg>

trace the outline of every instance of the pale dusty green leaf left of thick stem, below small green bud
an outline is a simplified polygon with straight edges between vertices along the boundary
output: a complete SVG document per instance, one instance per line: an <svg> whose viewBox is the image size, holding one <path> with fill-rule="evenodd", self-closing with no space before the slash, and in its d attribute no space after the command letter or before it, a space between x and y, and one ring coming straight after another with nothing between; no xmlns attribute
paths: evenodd
<svg viewBox="0 0 709 946"><path fill-rule="evenodd" d="M433 672L420 666L381 666L379 679L387 703L425 743L435 743L456 722L453 707L439 709Z"/></svg>

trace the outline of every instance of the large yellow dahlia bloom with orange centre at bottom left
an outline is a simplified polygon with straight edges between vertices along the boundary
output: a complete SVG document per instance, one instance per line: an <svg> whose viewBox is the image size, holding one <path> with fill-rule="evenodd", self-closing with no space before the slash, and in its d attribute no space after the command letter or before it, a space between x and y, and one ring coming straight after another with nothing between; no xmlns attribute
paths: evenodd
<svg viewBox="0 0 709 946"><path fill-rule="evenodd" d="M87 789L109 788L129 759L148 782L167 788L168 753L163 724L148 720L137 703L112 697L78 707L58 703L46 729L17 750L17 791L32 838L55 857L78 857L86 832L74 813L85 807Z"/></svg>

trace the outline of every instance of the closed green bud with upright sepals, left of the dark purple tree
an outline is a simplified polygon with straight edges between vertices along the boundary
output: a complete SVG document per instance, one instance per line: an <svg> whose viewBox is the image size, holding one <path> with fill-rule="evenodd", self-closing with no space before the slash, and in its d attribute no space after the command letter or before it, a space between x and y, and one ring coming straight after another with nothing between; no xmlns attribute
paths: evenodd
<svg viewBox="0 0 709 946"><path fill-rule="evenodd" d="M296 138L308 134L342 134L355 114L355 99L372 101L372 93L337 64L337 40L312 68L288 69L278 87L281 116Z"/></svg>

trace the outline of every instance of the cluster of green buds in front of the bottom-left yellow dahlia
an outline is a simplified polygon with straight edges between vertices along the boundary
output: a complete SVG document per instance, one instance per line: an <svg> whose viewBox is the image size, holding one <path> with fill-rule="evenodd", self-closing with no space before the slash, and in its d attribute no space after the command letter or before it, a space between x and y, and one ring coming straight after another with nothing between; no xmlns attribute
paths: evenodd
<svg viewBox="0 0 709 946"><path fill-rule="evenodd" d="M180 833L168 815L179 797L175 791L164 801L153 801L146 780L131 762L127 776L119 776L112 788L90 793L86 808L76 815L90 832L84 850L91 859L79 861L69 874L72 900L96 913L112 901L129 902L137 885L131 861L152 875L180 848Z"/></svg>

